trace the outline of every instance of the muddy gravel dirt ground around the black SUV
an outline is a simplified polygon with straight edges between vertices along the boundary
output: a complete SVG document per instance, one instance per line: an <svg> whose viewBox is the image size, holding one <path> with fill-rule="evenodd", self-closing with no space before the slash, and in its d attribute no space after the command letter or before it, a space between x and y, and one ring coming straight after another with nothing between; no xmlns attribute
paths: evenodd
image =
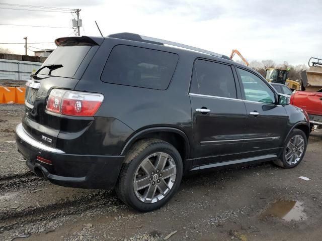
<svg viewBox="0 0 322 241"><path fill-rule="evenodd" d="M6 143L23 110L0 105L0 240L164 240L175 231L168 240L321 240L322 130L294 169L195 173L166 206L140 213L113 191L59 187L31 173Z"/></svg>

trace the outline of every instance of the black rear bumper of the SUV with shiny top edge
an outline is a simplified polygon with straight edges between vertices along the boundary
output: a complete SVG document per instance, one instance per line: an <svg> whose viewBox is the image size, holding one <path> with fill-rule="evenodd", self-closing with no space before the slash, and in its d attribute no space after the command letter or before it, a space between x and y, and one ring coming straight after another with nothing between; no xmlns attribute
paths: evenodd
<svg viewBox="0 0 322 241"><path fill-rule="evenodd" d="M112 189L124 159L123 156L67 154L30 137L22 124L16 128L16 143L33 172L66 187ZM37 157L50 160L51 164L41 162Z"/></svg>

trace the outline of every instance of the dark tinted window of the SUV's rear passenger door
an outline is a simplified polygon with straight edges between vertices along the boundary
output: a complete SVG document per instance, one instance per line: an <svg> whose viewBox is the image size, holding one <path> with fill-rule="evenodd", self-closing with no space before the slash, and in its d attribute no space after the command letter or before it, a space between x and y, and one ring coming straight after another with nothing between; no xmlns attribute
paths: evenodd
<svg viewBox="0 0 322 241"><path fill-rule="evenodd" d="M229 65L197 60L194 65L190 92L236 98L236 86Z"/></svg>

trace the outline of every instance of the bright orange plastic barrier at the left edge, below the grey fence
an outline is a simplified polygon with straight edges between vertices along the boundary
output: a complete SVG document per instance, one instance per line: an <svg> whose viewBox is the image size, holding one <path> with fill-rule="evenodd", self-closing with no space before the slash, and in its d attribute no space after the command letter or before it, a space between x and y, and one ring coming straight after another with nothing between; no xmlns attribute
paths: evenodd
<svg viewBox="0 0 322 241"><path fill-rule="evenodd" d="M0 86L0 103L23 104L25 103L25 93L26 88L23 87Z"/></svg>

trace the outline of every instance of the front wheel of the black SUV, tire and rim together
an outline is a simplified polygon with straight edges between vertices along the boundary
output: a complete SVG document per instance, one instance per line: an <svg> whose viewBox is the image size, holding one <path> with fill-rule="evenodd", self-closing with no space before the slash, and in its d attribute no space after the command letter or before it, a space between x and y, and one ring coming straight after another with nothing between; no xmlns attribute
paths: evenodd
<svg viewBox="0 0 322 241"><path fill-rule="evenodd" d="M280 159L273 163L282 168L296 167L303 159L307 147L307 137L301 130L294 129L287 138Z"/></svg>

